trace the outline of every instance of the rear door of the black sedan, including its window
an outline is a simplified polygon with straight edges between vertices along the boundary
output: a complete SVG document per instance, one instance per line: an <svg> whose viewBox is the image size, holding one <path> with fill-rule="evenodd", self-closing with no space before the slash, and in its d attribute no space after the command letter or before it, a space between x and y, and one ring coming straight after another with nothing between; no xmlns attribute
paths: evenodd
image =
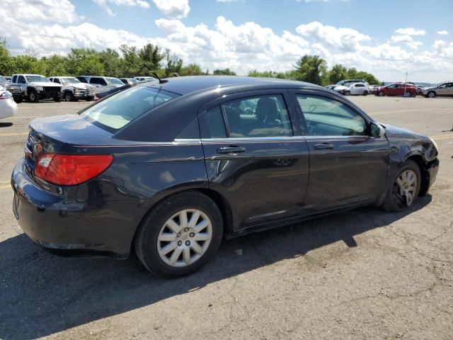
<svg viewBox="0 0 453 340"><path fill-rule="evenodd" d="M299 217L309 152L287 91L251 91L200 110L210 187L228 200L234 230Z"/></svg>

